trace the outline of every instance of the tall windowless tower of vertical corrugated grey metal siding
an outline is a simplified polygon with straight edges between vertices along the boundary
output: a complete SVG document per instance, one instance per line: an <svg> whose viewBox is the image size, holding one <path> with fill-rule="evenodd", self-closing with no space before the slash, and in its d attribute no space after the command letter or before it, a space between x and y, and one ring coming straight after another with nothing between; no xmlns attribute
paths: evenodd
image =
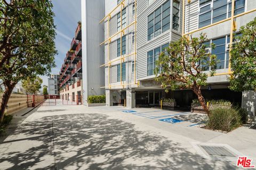
<svg viewBox="0 0 256 170"><path fill-rule="evenodd" d="M83 74L85 74L83 89L86 100L90 95L105 94L105 90L100 88L105 86L104 67L99 67L104 63L104 46L99 46L104 40L104 24L99 22L105 16L105 2L102 0L82 2L82 11Z"/></svg>

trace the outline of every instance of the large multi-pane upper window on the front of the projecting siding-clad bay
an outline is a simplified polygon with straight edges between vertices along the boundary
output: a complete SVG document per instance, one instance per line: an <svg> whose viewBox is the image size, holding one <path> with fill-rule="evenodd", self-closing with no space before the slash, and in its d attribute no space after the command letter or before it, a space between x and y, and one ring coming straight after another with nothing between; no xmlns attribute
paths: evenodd
<svg viewBox="0 0 256 170"><path fill-rule="evenodd" d="M148 40L170 29L170 0L148 15Z"/></svg>

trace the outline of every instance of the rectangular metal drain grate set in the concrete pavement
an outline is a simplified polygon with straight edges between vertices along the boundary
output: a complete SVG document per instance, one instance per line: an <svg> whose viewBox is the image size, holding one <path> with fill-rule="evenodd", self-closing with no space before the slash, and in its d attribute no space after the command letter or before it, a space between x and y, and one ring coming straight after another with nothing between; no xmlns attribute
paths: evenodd
<svg viewBox="0 0 256 170"><path fill-rule="evenodd" d="M233 154L228 148L223 146L205 146L200 145L201 148L203 148L207 154L210 156L228 156L228 157L236 157L236 154Z"/></svg>

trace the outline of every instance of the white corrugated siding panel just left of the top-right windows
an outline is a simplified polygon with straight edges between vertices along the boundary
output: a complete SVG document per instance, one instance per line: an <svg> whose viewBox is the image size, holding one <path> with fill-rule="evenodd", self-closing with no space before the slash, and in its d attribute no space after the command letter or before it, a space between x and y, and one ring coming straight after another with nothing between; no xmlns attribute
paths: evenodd
<svg viewBox="0 0 256 170"><path fill-rule="evenodd" d="M198 1L186 5L185 32L198 28Z"/></svg>

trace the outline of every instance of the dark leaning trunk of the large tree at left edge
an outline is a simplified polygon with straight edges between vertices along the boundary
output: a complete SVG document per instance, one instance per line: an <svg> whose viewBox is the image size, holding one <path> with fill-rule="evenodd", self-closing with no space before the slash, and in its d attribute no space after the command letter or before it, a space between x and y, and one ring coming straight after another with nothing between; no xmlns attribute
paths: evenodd
<svg viewBox="0 0 256 170"><path fill-rule="evenodd" d="M5 84L5 90L4 90L4 94L2 96L2 101L1 101L1 106L0 106L0 124L3 123L5 108L7 106L9 98L12 94L12 90L17 83L7 82L4 84Z"/></svg>

